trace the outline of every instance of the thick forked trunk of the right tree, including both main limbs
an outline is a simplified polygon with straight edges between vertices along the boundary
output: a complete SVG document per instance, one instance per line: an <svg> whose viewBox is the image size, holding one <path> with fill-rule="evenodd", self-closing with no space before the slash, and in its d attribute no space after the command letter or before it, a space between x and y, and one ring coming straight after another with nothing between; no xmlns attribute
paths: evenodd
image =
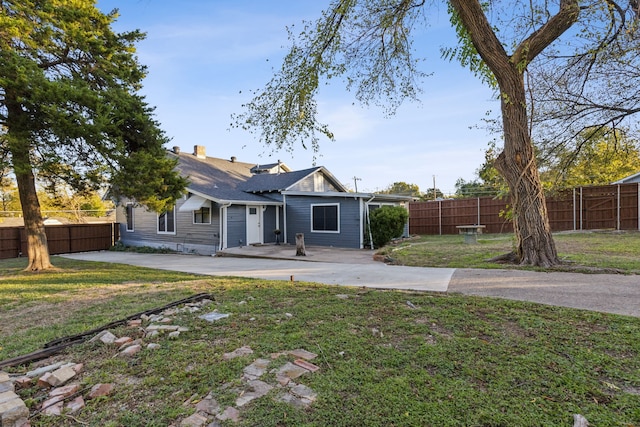
<svg viewBox="0 0 640 427"><path fill-rule="evenodd" d="M498 40L479 0L451 0L451 5L500 89L504 150L496 168L511 190L516 260L542 267L558 264L529 133L523 76L527 64L576 22L579 1L560 0L558 12L524 38L512 55Z"/></svg>

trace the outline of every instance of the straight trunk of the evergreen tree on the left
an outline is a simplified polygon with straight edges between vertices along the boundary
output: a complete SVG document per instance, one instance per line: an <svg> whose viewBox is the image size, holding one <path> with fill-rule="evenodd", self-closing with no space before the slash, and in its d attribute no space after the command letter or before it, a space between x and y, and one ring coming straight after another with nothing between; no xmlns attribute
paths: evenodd
<svg viewBox="0 0 640 427"><path fill-rule="evenodd" d="M40 202L36 191L36 180L31 166L29 132L25 113L18 102L10 102L12 94L7 93L7 138L11 162L16 175L24 228L27 234L27 253L29 265L26 270L40 271L53 268L47 246L47 234L44 228ZM13 98L16 99L16 98Z"/></svg>

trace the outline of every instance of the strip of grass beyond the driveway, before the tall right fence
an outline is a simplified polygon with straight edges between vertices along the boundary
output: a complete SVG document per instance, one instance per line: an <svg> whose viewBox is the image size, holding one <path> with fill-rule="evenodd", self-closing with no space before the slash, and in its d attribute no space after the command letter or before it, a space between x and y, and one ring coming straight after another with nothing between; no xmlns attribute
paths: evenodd
<svg viewBox="0 0 640 427"><path fill-rule="evenodd" d="M554 235L563 265L558 270L616 270L640 274L640 232L558 233ZM462 236L420 236L382 250L398 264L422 267L505 268L487 260L513 250L512 234L484 234L478 244Z"/></svg>

